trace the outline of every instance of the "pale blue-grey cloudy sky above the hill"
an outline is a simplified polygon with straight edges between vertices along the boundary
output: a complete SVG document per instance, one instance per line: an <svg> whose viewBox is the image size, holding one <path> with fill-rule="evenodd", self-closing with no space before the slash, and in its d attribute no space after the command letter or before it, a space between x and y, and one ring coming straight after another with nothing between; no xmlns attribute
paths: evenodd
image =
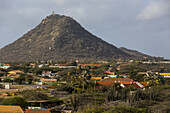
<svg viewBox="0 0 170 113"><path fill-rule="evenodd" d="M116 47L170 59L170 0L0 0L0 48L53 11Z"/></svg>

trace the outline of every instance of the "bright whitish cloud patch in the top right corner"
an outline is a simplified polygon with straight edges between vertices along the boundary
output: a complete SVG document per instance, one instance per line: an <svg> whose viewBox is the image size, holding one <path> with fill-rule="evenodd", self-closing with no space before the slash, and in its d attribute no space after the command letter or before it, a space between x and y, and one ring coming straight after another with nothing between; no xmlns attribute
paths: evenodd
<svg viewBox="0 0 170 113"><path fill-rule="evenodd" d="M168 15L170 2L168 0L152 0L146 8L137 16L137 19L151 20Z"/></svg>

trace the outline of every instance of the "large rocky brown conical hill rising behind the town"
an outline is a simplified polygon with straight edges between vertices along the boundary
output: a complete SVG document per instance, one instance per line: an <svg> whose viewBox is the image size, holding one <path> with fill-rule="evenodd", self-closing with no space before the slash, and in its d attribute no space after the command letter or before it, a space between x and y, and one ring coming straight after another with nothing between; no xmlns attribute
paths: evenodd
<svg viewBox="0 0 170 113"><path fill-rule="evenodd" d="M52 14L15 42L0 49L0 62L131 57L85 30L74 19Z"/></svg>

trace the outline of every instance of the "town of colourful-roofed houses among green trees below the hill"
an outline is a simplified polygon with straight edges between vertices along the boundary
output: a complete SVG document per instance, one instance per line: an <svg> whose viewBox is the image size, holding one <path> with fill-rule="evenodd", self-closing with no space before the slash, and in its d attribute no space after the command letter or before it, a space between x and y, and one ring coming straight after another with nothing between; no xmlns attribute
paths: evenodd
<svg viewBox="0 0 170 113"><path fill-rule="evenodd" d="M169 84L168 60L0 63L0 112L168 112Z"/></svg>

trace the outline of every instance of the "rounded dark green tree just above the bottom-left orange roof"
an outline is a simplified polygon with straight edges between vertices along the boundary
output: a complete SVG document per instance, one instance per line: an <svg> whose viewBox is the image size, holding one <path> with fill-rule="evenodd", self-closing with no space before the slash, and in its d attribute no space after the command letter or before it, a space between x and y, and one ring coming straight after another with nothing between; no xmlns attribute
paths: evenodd
<svg viewBox="0 0 170 113"><path fill-rule="evenodd" d="M22 108L27 106L27 102L21 97L12 97L2 100L2 105L18 105Z"/></svg>

